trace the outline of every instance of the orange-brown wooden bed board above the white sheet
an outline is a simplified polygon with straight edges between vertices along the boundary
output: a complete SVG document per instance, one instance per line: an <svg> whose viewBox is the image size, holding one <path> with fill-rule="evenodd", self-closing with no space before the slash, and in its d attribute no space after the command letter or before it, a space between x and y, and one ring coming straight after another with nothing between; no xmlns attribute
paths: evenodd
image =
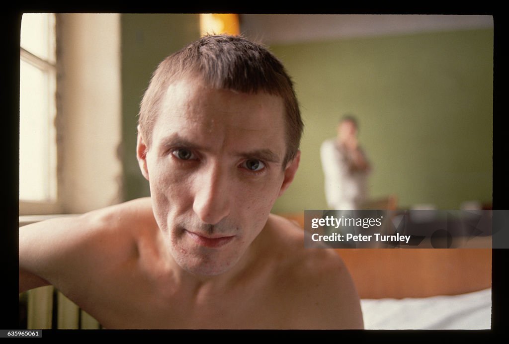
<svg viewBox="0 0 509 344"><path fill-rule="evenodd" d="M491 287L492 250L335 249L362 299L465 294Z"/></svg>

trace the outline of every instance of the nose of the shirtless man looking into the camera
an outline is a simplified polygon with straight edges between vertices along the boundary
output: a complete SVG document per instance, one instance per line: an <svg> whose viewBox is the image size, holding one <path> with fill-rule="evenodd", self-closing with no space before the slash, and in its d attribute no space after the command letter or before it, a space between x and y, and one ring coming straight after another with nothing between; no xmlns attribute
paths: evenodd
<svg viewBox="0 0 509 344"><path fill-rule="evenodd" d="M194 212L207 224L216 224L230 214L231 181L220 166L204 169L197 178Z"/></svg>

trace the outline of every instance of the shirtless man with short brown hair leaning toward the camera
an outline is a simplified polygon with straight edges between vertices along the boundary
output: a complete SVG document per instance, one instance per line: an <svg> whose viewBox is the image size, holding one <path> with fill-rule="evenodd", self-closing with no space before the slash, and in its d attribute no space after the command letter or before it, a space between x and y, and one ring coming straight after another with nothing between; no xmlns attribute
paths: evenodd
<svg viewBox="0 0 509 344"><path fill-rule="evenodd" d="M140 108L151 197L20 228L20 292L52 284L105 328L362 328L338 255L270 214L302 122L263 47L211 36L169 56Z"/></svg>

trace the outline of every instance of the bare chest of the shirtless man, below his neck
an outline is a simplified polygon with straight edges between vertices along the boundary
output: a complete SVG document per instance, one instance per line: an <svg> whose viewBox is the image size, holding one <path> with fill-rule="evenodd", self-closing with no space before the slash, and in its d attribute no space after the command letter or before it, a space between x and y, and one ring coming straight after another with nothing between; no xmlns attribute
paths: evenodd
<svg viewBox="0 0 509 344"><path fill-rule="evenodd" d="M192 293L168 277L162 249L147 246L150 249L138 245L138 255L121 263L103 265L90 288L79 295L78 304L105 328L293 327L295 297L274 269L261 264L263 268L249 269L229 288Z"/></svg>

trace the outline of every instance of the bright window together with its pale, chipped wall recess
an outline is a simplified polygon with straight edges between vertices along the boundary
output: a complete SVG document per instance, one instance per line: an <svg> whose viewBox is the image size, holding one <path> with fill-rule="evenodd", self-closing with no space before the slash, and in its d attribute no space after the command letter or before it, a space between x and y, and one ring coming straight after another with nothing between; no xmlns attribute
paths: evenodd
<svg viewBox="0 0 509 344"><path fill-rule="evenodd" d="M120 15L24 14L21 26L20 215L119 203Z"/></svg>

